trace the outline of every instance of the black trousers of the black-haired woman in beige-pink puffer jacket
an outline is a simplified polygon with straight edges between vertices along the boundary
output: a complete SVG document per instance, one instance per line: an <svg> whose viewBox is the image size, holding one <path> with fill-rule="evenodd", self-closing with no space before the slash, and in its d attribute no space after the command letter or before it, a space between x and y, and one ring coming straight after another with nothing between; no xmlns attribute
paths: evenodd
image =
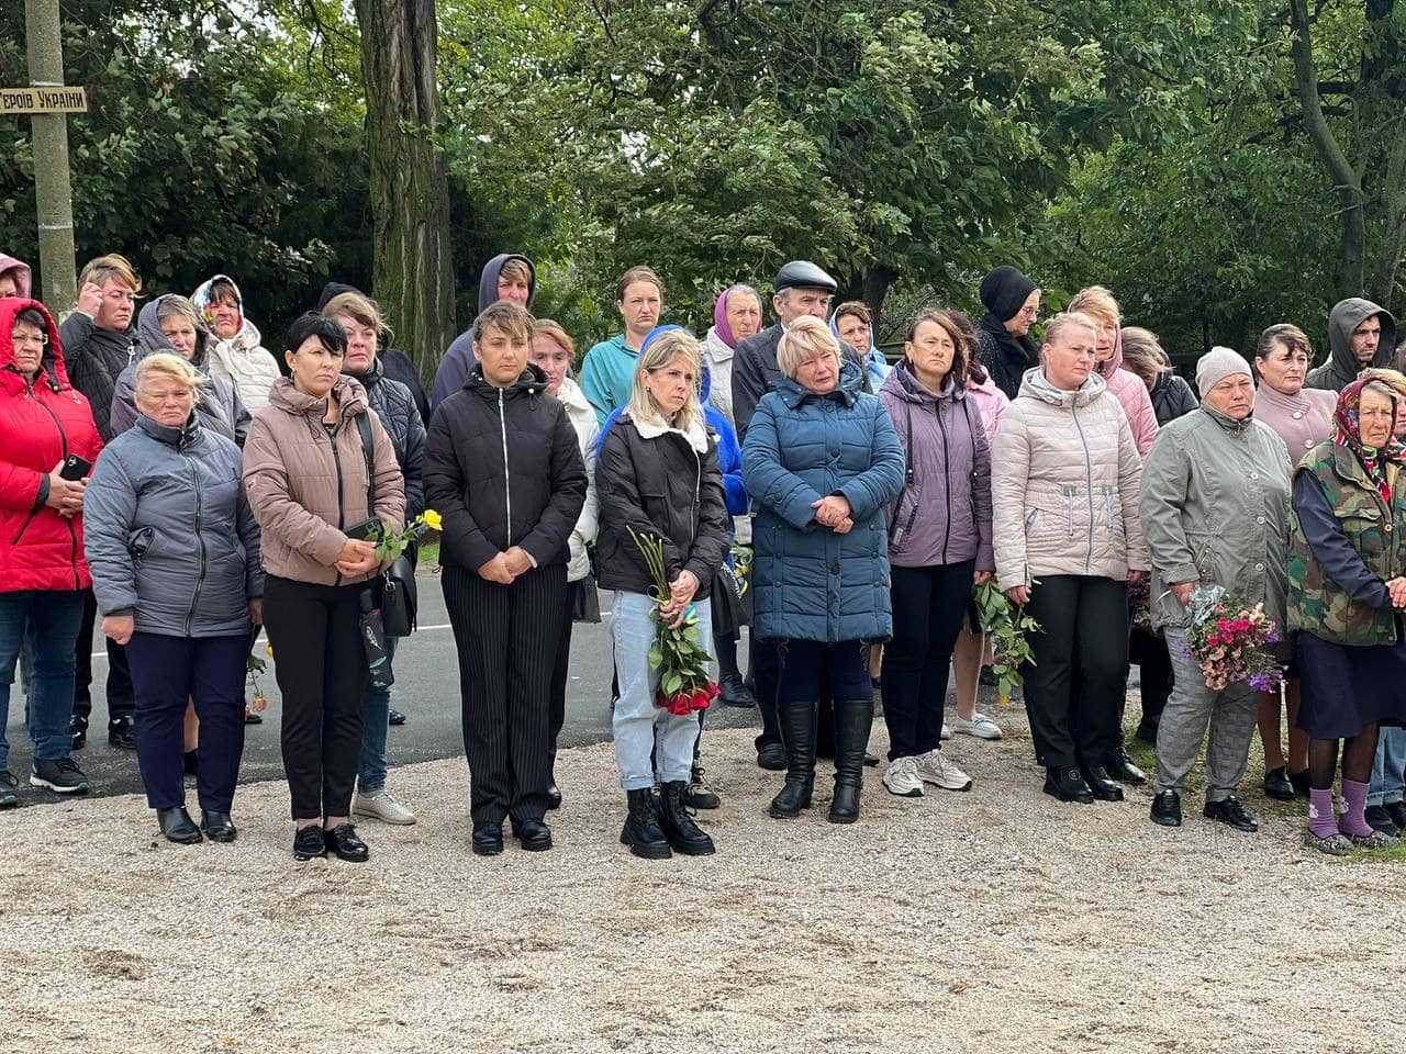
<svg viewBox="0 0 1406 1054"><path fill-rule="evenodd" d="M283 769L294 819L352 811L368 682L360 631L366 587L264 579L264 628L283 696Z"/></svg>

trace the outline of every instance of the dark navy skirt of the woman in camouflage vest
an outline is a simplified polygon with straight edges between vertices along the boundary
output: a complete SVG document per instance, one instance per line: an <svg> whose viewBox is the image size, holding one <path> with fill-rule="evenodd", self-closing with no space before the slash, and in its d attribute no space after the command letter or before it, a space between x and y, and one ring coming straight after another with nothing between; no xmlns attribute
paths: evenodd
<svg viewBox="0 0 1406 1054"><path fill-rule="evenodd" d="M1367 725L1406 724L1406 632L1396 644L1348 648L1294 635L1302 686L1298 727L1313 739L1348 739Z"/></svg>

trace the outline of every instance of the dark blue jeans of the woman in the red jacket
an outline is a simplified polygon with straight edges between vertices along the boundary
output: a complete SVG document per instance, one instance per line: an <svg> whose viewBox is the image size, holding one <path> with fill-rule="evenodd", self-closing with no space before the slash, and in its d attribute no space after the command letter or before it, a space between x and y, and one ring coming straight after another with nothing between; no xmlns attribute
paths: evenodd
<svg viewBox="0 0 1406 1054"><path fill-rule="evenodd" d="M83 616L83 593L30 590L0 593L0 769L10 762L4 738L10 720L10 686L15 659L32 630L34 666L30 680L30 739L34 757L56 762L69 756L69 718L73 715L73 646Z"/></svg>

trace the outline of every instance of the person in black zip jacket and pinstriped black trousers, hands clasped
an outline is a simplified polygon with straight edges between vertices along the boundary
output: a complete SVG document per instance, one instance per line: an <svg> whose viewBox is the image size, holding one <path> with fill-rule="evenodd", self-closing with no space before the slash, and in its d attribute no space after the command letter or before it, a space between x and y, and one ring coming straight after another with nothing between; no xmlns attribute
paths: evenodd
<svg viewBox="0 0 1406 1054"><path fill-rule="evenodd" d="M586 467L567 409L527 361L531 315L494 304L474 322L478 363L430 422L425 496L443 517L444 603L458 649L472 847L551 849L551 677L571 531Z"/></svg>

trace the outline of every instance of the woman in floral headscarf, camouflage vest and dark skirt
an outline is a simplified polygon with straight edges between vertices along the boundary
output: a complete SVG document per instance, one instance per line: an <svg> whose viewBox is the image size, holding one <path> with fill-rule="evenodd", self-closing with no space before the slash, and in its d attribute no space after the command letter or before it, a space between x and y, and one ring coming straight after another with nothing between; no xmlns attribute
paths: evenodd
<svg viewBox="0 0 1406 1054"><path fill-rule="evenodd" d="M1303 679L1299 728L1309 735L1306 842L1341 856L1392 839L1367 822L1381 724L1406 721L1406 448L1395 438L1406 378L1367 370L1337 398L1337 436L1294 472L1289 628ZM1333 781L1343 757L1341 818Z"/></svg>

